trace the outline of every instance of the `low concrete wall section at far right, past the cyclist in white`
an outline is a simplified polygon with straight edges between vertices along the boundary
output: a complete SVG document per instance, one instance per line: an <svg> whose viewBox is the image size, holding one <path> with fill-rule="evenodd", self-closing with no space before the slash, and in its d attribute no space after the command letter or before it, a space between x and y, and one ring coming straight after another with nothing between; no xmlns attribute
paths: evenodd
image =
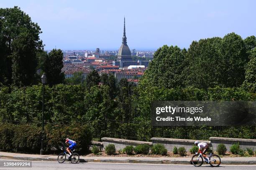
<svg viewBox="0 0 256 170"><path fill-rule="evenodd" d="M213 150L216 150L217 146L221 143L226 146L228 151L230 150L230 146L234 143L239 143L241 149L251 148L256 150L256 139L210 137L210 141Z"/></svg>

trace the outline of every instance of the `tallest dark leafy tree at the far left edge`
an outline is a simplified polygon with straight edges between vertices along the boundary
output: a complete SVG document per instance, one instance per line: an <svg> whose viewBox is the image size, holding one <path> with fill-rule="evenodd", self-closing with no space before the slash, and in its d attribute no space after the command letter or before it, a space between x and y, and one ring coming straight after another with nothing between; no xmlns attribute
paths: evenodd
<svg viewBox="0 0 256 170"><path fill-rule="evenodd" d="M36 52L43 49L41 28L18 7L0 8L0 81L5 85L36 83Z"/></svg>

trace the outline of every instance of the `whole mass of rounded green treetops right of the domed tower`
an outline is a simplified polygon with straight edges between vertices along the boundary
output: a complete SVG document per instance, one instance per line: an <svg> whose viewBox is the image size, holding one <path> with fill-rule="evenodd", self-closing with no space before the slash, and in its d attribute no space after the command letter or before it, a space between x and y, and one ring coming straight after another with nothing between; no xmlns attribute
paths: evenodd
<svg viewBox="0 0 256 170"><path fill-rule="evenodd" d="M193 41L188 50L164 45L154 53L140 84L165 88L240 87L254 37L230 33ZM161 69L160 69L161 68Z"/></svg>

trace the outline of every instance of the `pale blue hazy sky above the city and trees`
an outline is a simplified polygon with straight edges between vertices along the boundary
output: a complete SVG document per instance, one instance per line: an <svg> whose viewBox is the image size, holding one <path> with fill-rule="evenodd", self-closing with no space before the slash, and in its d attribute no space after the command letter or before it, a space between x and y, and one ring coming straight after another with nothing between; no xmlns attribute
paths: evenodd
<svg viewBox="0 0 256 170"><path fill-rule="evenodd" d="M40 25L46 50L118 50L123 16L130 49L189 47L193 40L236 32L256 35L256 0L5 0Z"/></svg>

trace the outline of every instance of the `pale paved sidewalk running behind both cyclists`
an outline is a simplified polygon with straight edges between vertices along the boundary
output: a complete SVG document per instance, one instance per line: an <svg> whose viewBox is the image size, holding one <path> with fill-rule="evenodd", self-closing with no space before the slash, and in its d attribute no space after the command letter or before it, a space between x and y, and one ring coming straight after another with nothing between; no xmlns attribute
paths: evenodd
<svg viewBox="0 0 256 170"><path fill-rule="evenodd" d="M37 155L23 153L0 152L0 158L17 160L57 161L57 155ZM87 157L80 156L80 162L104 163L157 163L157 164L189 164L191 158L172 157ZM221 158L222 164L256 164L256 157Z"/></svg>

